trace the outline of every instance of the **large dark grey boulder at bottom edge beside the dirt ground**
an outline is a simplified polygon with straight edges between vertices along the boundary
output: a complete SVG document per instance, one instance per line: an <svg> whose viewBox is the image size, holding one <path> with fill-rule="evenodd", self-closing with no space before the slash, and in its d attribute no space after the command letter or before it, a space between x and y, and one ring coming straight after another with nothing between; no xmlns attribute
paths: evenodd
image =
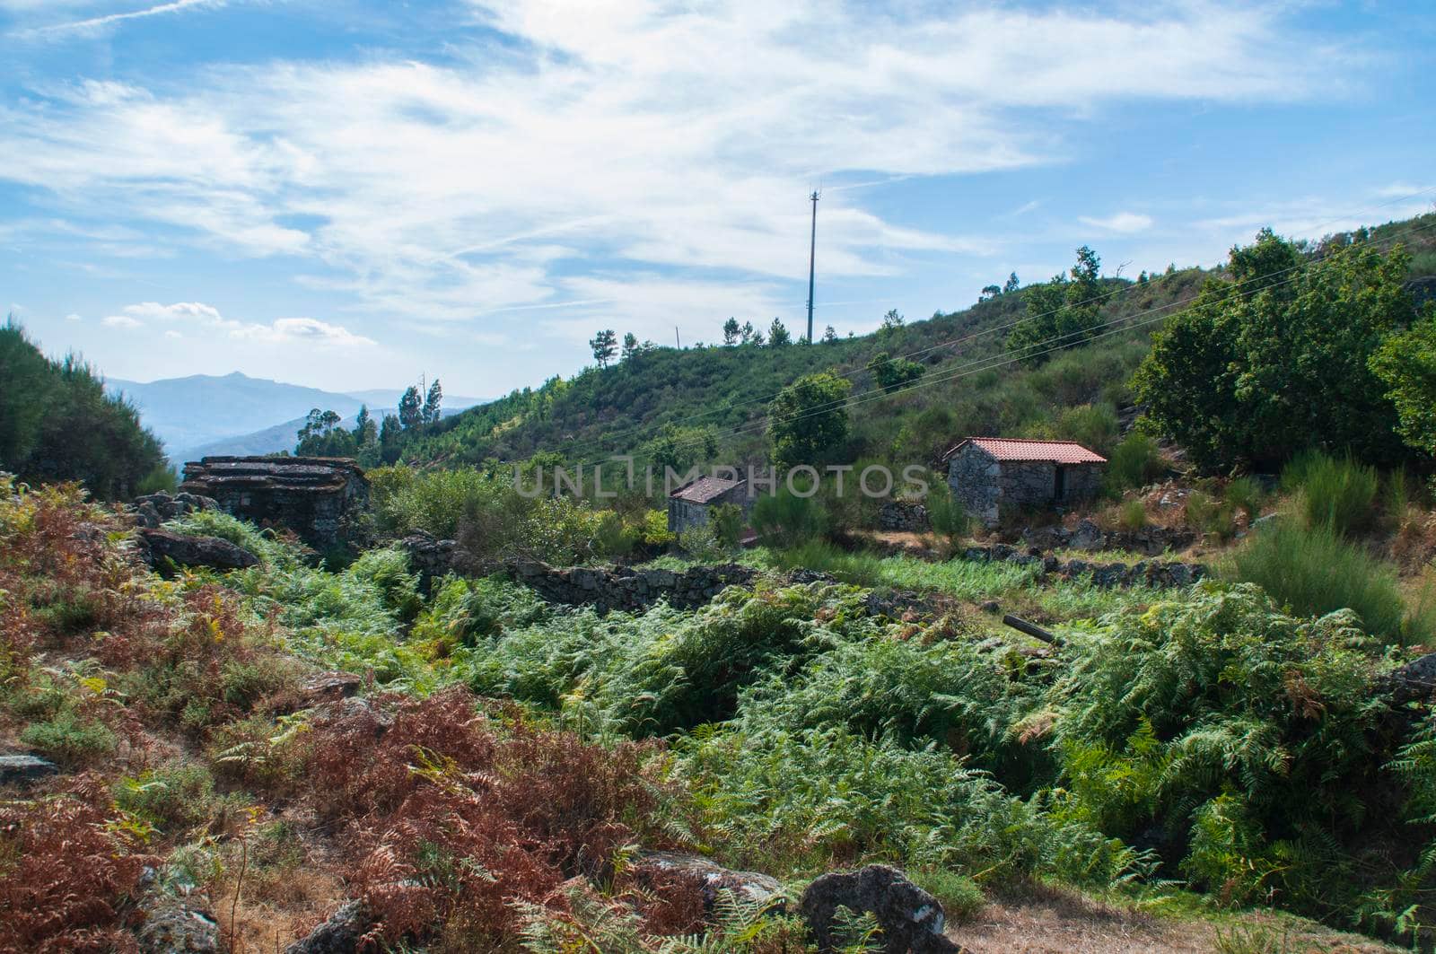
<svg viewBox="0 0 1436 954"><path fill-rule="evenodd" d="M886 954L952 954L962 950L942 934L943 917L938 899L895 868L867 865L852 874L833 872L807 886L798 914L823 954L836 948L833 927L839 907L853 914L872 912L882 927L882 950Z"/></svg>

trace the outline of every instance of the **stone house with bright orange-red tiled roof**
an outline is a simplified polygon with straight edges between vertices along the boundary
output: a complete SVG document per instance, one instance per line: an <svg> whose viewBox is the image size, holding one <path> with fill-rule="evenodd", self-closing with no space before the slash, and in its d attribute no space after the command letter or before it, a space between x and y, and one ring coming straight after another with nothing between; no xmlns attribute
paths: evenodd
<svg viewBox="0 0 1436 954"><path fill-rule="evenodd" d="M1017 510L1063 506L1094 496L1107 463L1077 441L1005 437L969 437L943 460L954 497L987 526Z"/></svg>

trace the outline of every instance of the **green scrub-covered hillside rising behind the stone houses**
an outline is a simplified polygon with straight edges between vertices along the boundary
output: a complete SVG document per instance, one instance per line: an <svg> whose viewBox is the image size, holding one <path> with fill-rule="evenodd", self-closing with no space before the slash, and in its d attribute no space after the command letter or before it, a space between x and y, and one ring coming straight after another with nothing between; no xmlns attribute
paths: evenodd
<svg viewBox="0 0 1436 954"><path fill-rule="evenodd" d="M1436 216L1423 216L1328 236L1302 249L1318 259L1353 241L1383 249L1404 241L1412 253L1410 277L1420 279L1436 274L1433 223ZM902 328L811 346L653 348L606 369L587 368L572 379L516 391L438 428L406 435L404 458L452 466L556 451L570 463L597 461L642 451L663 425L675 425L708 430L725 460L757 460L764 455L768 401L793 379L823 369L853 382L852 445L841 454L847 460L931 460L966 434L1077 437L1071 431L1083 422L1071 421L1064 431L1063 409L1103 405L1096 414L1114 418L1129 401L1126 379L1146 352L1150 332L1190 302L1209 276L1221 277L1222 270L1101 279L1100 339L1080 349L1081 356L1068 352L1035 371L1008 361L1004 339L1027 313L1027 296L1041 284ZM875 394L866 365L880 352L923 365L923 385L893 397Z"/></svg>

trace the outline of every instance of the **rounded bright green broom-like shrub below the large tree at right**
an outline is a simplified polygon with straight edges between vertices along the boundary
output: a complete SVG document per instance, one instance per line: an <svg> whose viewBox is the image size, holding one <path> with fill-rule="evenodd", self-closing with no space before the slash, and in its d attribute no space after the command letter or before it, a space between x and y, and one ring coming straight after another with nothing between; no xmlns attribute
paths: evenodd
<svg viewBox="0 0 1436 954"><path fill-rule="evenodd" d="M1307 527L1277 520L1236 552L1234 576L1256 583L1301 616L1350 608L1369 632L1386 641L1403 636L1396 576L1327 524Z"/></svg>

